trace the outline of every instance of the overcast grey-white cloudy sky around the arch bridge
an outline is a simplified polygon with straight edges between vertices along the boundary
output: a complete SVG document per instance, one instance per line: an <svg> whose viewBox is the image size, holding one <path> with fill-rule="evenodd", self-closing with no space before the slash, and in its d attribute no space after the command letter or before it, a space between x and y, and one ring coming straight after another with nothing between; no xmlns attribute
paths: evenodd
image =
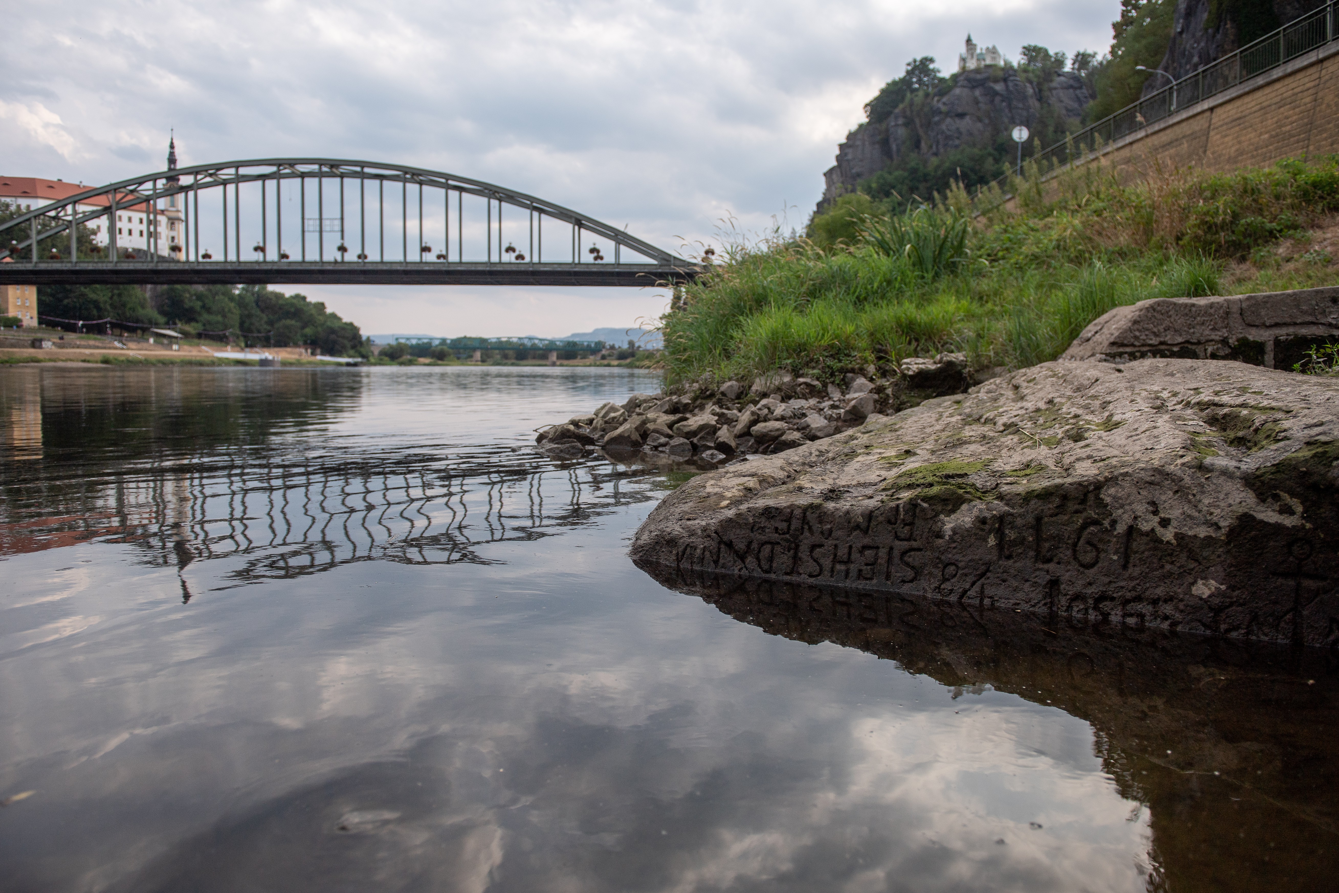
<svg viewBox="0 0 1339 893"><path fill-rule="evenodd" d="M963 37L1102 51L1118 0L48 0L7 12L0 174L399 162L574 208L667 249L802 226L837 143L908 59ZM301 288L364 332L566 335L655 289Z"/></svg>

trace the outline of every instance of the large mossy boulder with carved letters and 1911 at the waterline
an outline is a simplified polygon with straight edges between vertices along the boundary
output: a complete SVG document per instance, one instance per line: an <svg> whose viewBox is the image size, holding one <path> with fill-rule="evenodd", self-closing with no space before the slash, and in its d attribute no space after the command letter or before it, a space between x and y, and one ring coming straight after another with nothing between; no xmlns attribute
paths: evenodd
<svg viewBox="0 0 1339 893"><path fill-rule="evenodd" d="M1339 644L1339 379L1056 361L702 475L637 562Z"/></svg>

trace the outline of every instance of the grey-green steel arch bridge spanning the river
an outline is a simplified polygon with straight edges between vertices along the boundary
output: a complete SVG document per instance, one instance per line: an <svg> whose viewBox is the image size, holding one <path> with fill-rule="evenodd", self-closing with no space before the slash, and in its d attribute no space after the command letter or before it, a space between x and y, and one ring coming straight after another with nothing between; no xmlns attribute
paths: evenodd
<svg viewBox="0 0 1339 893"><path fill-rule="evenodd" d="M129 214L142 218L146 248L119 236ZM99 236L80 234L87 226ZM332 158L123 179L0 224L0 285L657 285L698 273L688 260L534 195Z"/></svg>

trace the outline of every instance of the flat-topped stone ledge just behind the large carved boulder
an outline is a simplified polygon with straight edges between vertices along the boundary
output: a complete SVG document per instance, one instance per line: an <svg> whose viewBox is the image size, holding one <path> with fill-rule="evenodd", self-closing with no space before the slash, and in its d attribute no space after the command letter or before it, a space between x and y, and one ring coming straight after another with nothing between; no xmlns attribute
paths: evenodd
<svg viewBox="0 0 1339 893"><path fill-rule="evenodd" d="M1062 360L1148 356L1240 360L1291 370L1339 339L1339 288L1232 297L1158 297L1118 307L1083 329Z"/></svg>

